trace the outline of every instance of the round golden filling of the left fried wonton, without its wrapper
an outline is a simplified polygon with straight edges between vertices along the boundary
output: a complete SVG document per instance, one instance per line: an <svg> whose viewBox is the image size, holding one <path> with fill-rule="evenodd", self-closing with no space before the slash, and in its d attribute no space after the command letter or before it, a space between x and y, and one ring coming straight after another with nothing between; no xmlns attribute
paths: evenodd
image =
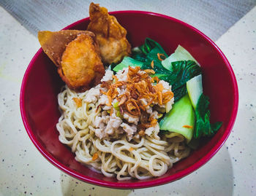
<svg viewBox="0 0 256 196"><path fill-rule="evenodd" d="M64 81L75 90L88 90L99 84L105 68L91 36L80 34L70 42L62 55L61 70Z"/></svg>

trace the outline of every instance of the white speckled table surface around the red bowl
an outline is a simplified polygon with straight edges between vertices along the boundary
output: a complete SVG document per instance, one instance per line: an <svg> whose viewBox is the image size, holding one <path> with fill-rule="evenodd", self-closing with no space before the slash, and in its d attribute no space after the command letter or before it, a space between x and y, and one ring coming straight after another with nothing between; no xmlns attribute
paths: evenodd
<svg viewBox="0 0 256 196"><path fill-rule="evenodd" d="M218 40L238 81L239 108L219 152L189 176L159 187L118 190L83 183L51 165L20 117L23 74L37 38L0 7L0 195L256 195L256 7Z"/></svg>

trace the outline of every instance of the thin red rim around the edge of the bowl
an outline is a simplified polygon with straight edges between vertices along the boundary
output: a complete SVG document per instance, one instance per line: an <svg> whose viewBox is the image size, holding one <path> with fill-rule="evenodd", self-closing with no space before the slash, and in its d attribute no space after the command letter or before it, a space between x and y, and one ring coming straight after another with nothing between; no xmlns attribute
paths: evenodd
<svg viewBox="0 0 256 196"><path fill-rule="evenodd" d="M159 14L159 13L155 13L155 12L146 12L146 11L137 11L137 10L136 11L135 10L124 10L124 11L115 11L115 12L109 12L109 13L110 13L110 15L134 14L135 13L135 14L142 14L142 15L153 15L153 16L157 16L157 17L163 17L167 20L173 20L174 22L180 23L182 26L186 26L187 28L190 28L193 31L195 31L197 34L202 36L203 39L206 39L206 41L209 44L211 44L211 47L214 47L214 49L217 50L217 52L222 57L222 60L225 62L226 66L227 66L227 69L230 73L230 77L232 79L233 90L235 92L234 107L233 107L233 110L231 112L230 122L228 123L227 129L225 130L225 133L222 135L221 139L217 142L217 144L214 145L214 147L204 157L200 158L200 160L197 160L197 162L195 162L195 164L189 166L188 168L186 168L184 170L178 171L177 173L175 173L171 176L167 176L167 177L162 178L162 179L152 179L151 181L138 181L138 182L136 181L135 183L132 182L132 183L127 184L127 183L125 183L125 181L112 182L112 181L104 181L104 180L94 179L94 178L91 178L89 176L85 176L83 174L80 174L80 173L78 173L77 171L75 171L73 169L68 168L66 165L63 165L61 162L56 160L49 152L47 152L44 149L44 147L41 144L39 144L39 142L37 141L36 136L34 135L32 129L29 125L28 118L26 117L26 110L25 110L26 83L27 83L27 80L29 78L29 73L31 71L32 65L34 64L34 61L37 59L39 54L41 54L41 52L43 52L42 48L40 48L37 51L37 53L32 58L31 62L29 63L29 66L26 69L26 72L23 76L23 81L22 81L22 84L21 84L21 87L20 87L20 114L21 114L21 117L22 117L22 120L23 120L24 127L26 129L26 132L28 133L29 138L33 142L34 146L37 147L39 152L46 158L46 160L48 160L50 163L52 163L54 166L56 166L56 168L59 168L60 170L64 171L64 173L67 173L70 176L75 177L76 179L79 179L79 180L84 181L84 182L89 183L89 184L94 184L94 185L98 185L98 186L101 186L101 187L115 188L115 189L139 189L139 188L159 186L159 185L162 185L162 184L167 184L169 182L181 179L184 176L189 175L193 171L197 170L198 168L200 168L201 166L206 164L206 162L208 162L211 159L211 157L213 157L214 154L216 154L219 151L219 149L222 147L222 145L225 143L228 136L230 135L230 132L233 128L234 122L236 120L237 111L238 111L238 85L237 85L237 82L236 82L236 77L235 77L235 74L233 72L233 69L230 66L230 63L228 62L228 60L225 57L225 55L223 54L223 52L219 49L219 47L217 47L217 44L215 44L211 39L208 38L208 36L203 34L197 28L195 28L193 26L190 26L189 24L184 23L181 20L178 20L174 17L170 17L170 16L167 16L167 15L162 15L162 14ZM75 23L72 23L69 26L63 28L63 30L72 28L73 26L76 26L78 23L82 23L85 20L89 20L89 17L78 20Z"/></svg>

